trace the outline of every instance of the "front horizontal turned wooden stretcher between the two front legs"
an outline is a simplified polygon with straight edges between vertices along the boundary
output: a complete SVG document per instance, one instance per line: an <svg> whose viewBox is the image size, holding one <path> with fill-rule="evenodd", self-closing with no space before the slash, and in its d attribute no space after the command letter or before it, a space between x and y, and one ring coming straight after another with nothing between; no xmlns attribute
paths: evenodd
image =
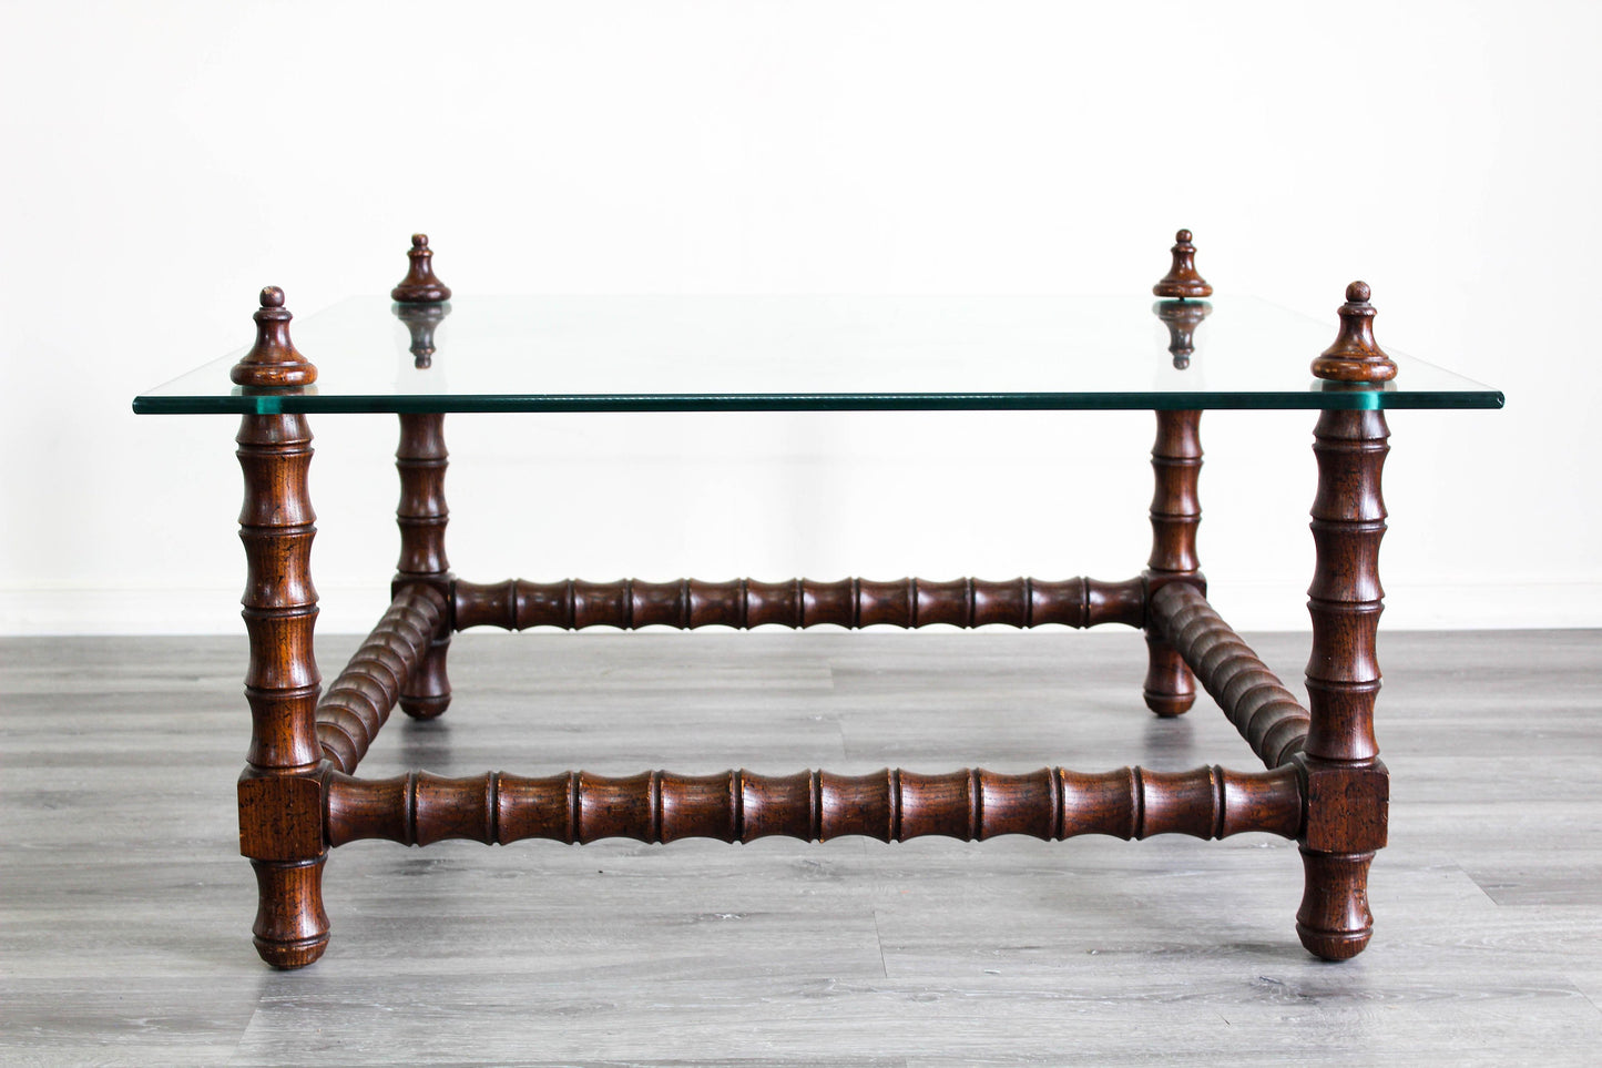
<svg viewBox="0 0 1602 1068"><path fill-rule="evenodd" d="M405 845L442 839L827 840L849 834L881 842L931 834L964 840L1001 834L1048 840L1078 834L1219 839L1245 831L1294 837L1299 827L1294 768L1121 768L1104 775L1064 768L915 775L886 768L862 776L763 776L742 770L706 776L646 771L622 779L585 771L533 779L490 771L447 779L413 771L392 779L340 773L328 779L330 845L357 839Z"/></svg>

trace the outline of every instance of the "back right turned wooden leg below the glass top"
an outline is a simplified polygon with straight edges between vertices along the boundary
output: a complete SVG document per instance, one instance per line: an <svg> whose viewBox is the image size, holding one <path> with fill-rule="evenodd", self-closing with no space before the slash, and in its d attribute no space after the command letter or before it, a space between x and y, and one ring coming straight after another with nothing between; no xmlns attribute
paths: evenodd
<svg viewBox="0 0 1602 1068"><path fill-rule="evenodd" d="M1152 446L1152 560L1144 572L1147 598L1168 582L1202 585L1197 560L1197 526L1202 504L1202 412L1157 412ZM1197 682L1179 654L1152 627L1145 630L1149 665L1145 707L1158 715L1181 715L1197 699Z"/></svg>

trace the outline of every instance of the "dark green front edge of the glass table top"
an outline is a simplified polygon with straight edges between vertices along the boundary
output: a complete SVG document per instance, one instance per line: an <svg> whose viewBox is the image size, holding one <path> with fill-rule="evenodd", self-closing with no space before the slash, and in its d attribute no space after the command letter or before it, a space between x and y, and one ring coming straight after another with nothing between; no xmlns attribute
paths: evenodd
<svg viewBox="0 0 1602 1068"><path fill-rule="evenodd" d="M1314 383L1320 385L1320 383ZM344 394L151 396L138 415L279 415L314 412L979 412L979 411L1371 411L1499 409L1499 390L1383 388L1197 393L641 393L641 394Z"/></svg>

